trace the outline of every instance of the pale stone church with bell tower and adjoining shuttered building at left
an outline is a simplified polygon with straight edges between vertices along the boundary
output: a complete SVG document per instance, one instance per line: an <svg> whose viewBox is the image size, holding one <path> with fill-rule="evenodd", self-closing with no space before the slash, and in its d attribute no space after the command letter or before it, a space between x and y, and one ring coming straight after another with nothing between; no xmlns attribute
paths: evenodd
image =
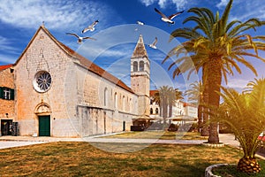
<svg viewBox="0 0 265 177"><path fill-rule="evenodd" d="M39 27L15 64L0 66L1 135L11 135L14 123L19 135L55 137L148 124L150 63L141 35L132 53L129 88Z"/></svg>

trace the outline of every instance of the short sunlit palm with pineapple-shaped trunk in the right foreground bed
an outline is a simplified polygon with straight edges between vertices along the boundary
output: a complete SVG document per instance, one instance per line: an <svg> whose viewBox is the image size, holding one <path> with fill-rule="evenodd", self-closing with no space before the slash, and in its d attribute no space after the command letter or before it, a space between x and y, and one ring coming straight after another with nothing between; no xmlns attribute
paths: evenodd
<svg viewBox="0 0 265 177"><path fill-rule="evenodd" d="M223 89L223 97L216 120L229 124L238 138L244 157L239 160L238 170L245 173L258 173L260 165L254 157L258 148L257 137L265 130L265 79L248 83L248 89L239 94L234 89Z"/></svg>

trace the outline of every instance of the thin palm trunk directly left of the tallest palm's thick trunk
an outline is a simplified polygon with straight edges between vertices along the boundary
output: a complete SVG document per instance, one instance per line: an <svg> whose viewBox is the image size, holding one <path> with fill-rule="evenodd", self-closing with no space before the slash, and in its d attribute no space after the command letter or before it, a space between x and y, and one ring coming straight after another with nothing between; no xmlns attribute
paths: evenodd
<svg viewBox="0 0 265 177"><path fill-rule="evenodd" d="M202 84L203 84L203 99L202 99L202 129L201 129L201 135L202 136L208 136L208 76L207 76L207 65L203 65L202 67Z"/></svg>

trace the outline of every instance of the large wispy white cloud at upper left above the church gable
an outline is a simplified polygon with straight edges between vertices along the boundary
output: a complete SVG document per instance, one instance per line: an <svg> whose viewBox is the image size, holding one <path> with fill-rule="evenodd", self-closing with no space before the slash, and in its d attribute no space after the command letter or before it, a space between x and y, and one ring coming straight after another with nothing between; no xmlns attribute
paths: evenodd
<svg viewBox="0 0 265 177"><path fill-rule="evenodd" d="M35 28L45 21L49 29L72 28L98 19L106 10L91 1L10 0L1 2L0 20L15 27Z"/></svg>

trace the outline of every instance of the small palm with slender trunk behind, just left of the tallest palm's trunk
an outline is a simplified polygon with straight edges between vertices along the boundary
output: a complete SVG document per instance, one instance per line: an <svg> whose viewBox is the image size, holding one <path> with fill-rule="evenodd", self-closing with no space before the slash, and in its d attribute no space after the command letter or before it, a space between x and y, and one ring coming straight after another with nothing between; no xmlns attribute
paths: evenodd
<svg viewBox="0 0 265 177"><path fill-rule="evenodd" d="M195 81L194 83L190 84L191 89L186 90L186 95L188 97L188 101L192 104L198 106L198 131L200 131L201 126L201 119L202 119L202 106L203 106L203 85L201 81ZM206 125L206 121L203 121L204 125ZM205 127L205 126L204 126ZM203 131L201 131L201 135Z"/></svg>

